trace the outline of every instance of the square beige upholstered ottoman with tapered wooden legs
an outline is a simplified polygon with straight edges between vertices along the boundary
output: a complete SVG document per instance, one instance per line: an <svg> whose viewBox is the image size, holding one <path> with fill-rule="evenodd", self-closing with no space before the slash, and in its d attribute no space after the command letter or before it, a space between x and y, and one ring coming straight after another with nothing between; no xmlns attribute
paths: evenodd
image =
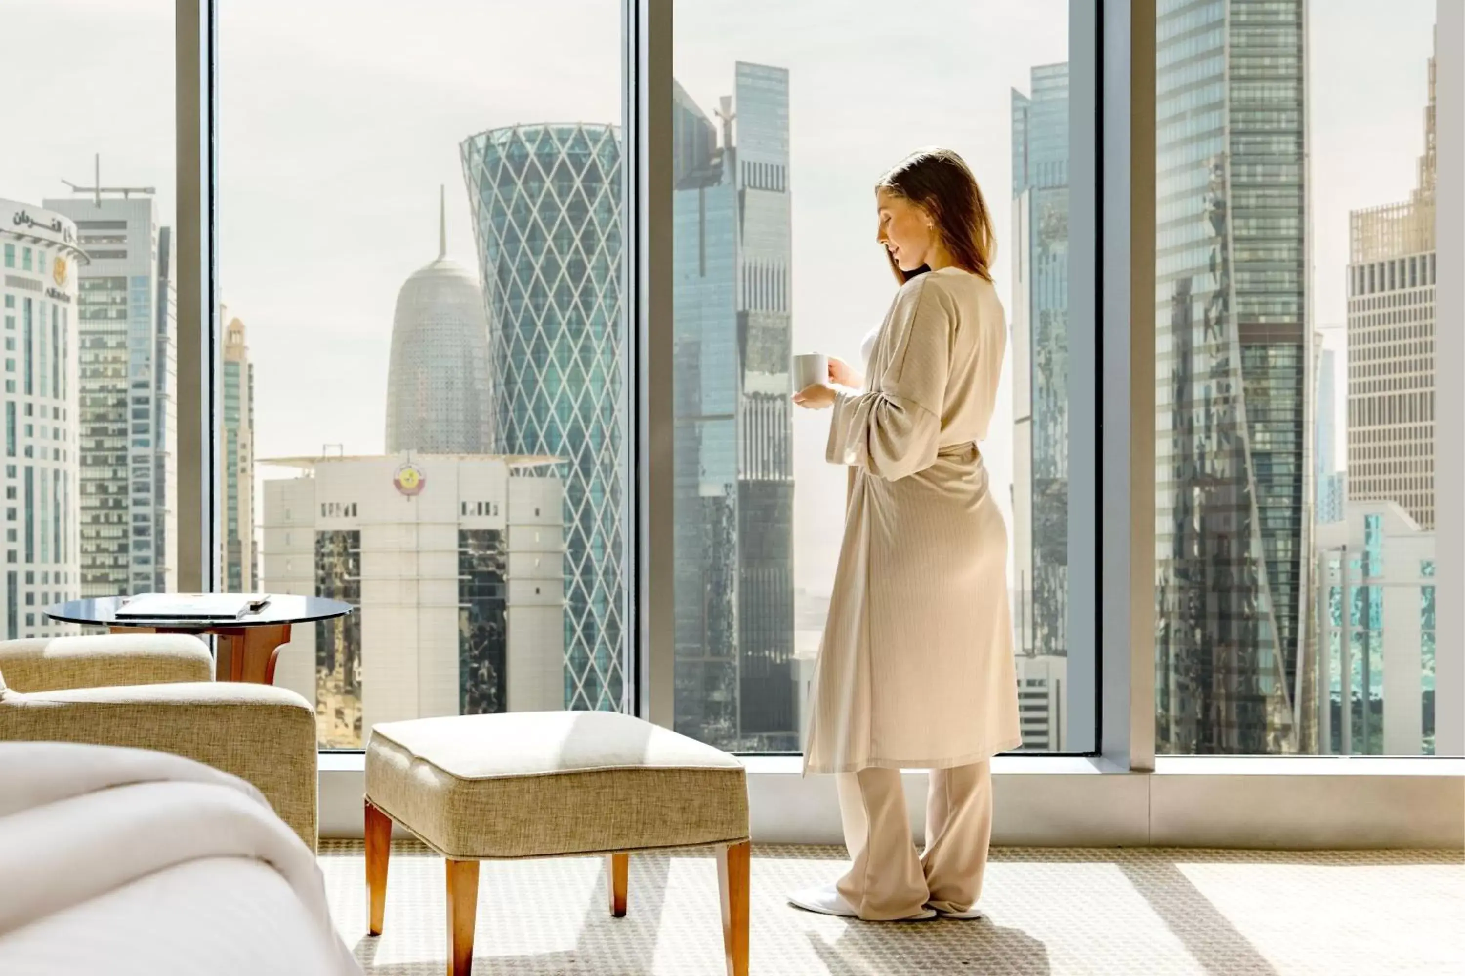
<svg viewBox="0 0 1465 976"><path fill-rule="evenodd" d="M381 723L366 743L369 931L381 935L396 821L442 855L448 973L473 964L478 862L604 855L626 915L628 855L715 846L730 976L747 973L747 783L734 757L607 711Z"/></svg>

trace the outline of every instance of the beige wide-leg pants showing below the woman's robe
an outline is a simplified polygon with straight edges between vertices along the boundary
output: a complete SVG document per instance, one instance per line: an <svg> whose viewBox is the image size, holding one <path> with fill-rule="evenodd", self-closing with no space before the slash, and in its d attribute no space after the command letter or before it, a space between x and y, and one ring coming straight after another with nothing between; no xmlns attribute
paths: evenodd
<svg viewBox="0 0 1465 976"><path fill-rule="evenodd" d="M839 894L861 919L888 922L930 906L965 912L982 896L992 841L992 764L930 771L926 850L916 855L901 771L841 773L839 812L854 865Z"/></svg>

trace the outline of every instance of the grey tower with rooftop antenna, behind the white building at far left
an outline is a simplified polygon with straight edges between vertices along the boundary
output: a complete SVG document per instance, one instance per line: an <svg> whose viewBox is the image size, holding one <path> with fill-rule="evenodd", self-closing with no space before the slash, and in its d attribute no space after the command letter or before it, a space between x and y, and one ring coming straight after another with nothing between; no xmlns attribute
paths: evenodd
<svg viewBox="0 0 1465 976"><path fill-rule="evenodd" d="M171 233L151 187L73 187L81 272L81 596L176 588Z"/></svg>

